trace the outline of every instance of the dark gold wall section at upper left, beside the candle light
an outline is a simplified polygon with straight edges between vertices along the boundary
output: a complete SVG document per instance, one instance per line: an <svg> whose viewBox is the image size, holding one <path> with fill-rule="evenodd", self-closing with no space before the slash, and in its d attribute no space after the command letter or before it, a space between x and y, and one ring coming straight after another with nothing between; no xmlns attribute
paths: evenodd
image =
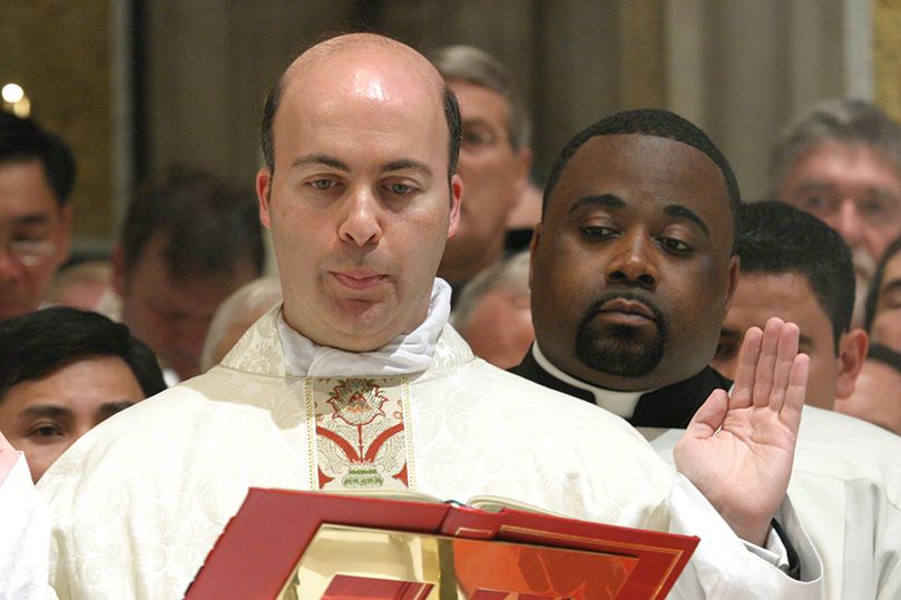
<svg viewBox="0 0 901 600"><path fill-rule="evenodd" d="M0 86L29 95L31 116L61 136L78 160L77 235L111 230L109 12L98 0L2 0Z"/></svg>

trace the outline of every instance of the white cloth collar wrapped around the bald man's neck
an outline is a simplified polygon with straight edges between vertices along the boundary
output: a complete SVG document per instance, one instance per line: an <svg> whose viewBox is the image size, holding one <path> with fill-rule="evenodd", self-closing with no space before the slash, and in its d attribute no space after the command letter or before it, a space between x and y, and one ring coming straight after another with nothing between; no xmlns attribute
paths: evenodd
<svg viewBox="0 0 901 600"><path fill-rule="evenodd" d="M372 352L320 346L292 329L284 313L280 313L277 327L285 353L285 371L297 377L390 376L425 371L450 314L450 285L435 277L425 321L412 333L401 334Z"/></svg>

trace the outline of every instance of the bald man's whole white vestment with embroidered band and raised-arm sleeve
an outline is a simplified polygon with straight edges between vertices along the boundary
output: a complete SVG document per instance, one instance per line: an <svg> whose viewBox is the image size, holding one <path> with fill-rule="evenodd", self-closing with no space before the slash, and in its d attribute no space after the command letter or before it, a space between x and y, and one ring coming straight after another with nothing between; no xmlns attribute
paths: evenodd
<svg viewBox="0 0 901 600"><path fill-rule="evenodd" d="M405 486L627 527L668 519L702 538L670 598L821 598L819 558L790 508L807 581L750 552L619 417L476 358L443 321L424 371L311 377L286 366L276 307L219 366L95 427L39 485L56 593L183 598L248 486Z"/></svg>

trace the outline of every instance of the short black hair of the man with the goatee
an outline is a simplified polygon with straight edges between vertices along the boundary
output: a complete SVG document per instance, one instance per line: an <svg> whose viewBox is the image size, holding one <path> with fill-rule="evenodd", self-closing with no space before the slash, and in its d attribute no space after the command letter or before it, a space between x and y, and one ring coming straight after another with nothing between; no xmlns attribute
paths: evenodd
<svg viewBox="0 0 901 600"><path fill-rule="evenodd" d="M569 144L564 147L560 156L557 157L550 170L550 175L548 176L548 183L545 187L545 199L541 205L541 218L545 217L548 198L550 198L554 187L560 180L560 176L569 164L569 159L572 158L572 155L575 155L586 141L594 137L619 134L638 134L667 138L697 148L707 155L723 173L723 178L726 181L726 191L728 191L729 195L729 208L732 209L733 218L735 217L738 205L742 204L738 181L726 157L723 156L723 153L711 141L711 138L708 138L699 127L674 112L657 108L639 108L617 112L606 119L601 119L595 125L576 134L576 137L569 140Z"/></svg>

